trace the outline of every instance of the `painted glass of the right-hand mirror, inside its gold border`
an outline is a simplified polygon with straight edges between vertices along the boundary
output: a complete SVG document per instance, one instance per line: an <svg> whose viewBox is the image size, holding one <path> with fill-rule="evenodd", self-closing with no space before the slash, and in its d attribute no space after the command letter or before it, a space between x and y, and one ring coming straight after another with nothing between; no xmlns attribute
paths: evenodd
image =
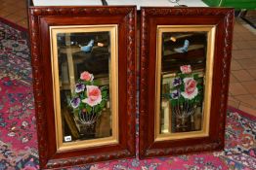
<svg viewBox="0 0 256 170"><path fill-rule="evenodd" d="M159 133L202 130L207 32L161 34Z"/></svg>

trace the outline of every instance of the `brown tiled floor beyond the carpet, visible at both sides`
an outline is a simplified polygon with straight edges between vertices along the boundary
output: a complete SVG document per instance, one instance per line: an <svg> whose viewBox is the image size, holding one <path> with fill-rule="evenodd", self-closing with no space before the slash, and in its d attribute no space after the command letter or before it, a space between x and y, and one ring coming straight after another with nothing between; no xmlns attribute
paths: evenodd
<svg viewBox="0 0 256 170"><path fill-rule="evenodd" d="M27 27L25 0L0 0L0 17ZM256 29L235 19L229 105L256 116Z"/></svg>

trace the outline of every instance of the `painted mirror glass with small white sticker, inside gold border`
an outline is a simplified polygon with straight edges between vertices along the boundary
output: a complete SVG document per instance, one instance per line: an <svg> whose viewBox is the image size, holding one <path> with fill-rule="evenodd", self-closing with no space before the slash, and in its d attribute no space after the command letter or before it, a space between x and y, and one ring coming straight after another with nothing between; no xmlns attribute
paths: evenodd
<svg viewBox="0 0 256 170"><path fill-rule="evenodd" d="M109 32L59 33L64 142L111 136Z"/></svg>

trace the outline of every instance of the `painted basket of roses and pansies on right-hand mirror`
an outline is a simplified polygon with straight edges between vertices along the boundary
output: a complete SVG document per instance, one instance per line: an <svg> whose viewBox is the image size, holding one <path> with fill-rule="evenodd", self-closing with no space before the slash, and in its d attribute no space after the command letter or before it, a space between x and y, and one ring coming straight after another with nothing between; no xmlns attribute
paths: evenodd
<svg viewBox="0 0 256 170"><path fill-rule="evenodd" d="M183 65L180 70L181 72L175 74L168 95L171 102L173 132L197 130L194 129L194 115L196 109L202 107L203 100L203 79L199 74L192 73L191 65Z"/></svg>

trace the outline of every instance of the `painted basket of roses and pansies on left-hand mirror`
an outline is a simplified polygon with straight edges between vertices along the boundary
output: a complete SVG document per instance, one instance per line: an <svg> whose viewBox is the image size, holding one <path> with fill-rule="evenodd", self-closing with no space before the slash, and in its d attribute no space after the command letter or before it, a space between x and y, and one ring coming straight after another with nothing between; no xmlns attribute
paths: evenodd
<svg viewBox="0 0 256 170"><path fill-rule="evenodd" d="M100 87L93 74L82 72L69 102L81 138L95 138L96 123L107 98L107 86Z"/></svg>

